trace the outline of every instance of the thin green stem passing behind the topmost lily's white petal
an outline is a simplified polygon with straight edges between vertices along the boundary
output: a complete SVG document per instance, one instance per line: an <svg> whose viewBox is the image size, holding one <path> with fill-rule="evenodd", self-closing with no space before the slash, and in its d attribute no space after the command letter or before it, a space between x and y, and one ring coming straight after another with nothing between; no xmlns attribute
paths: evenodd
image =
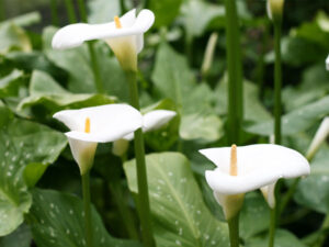
<svg viewBox="0 0 329 247"><path fill-rule="evenodd" d="M87 16L84 0L78 0L78 3L79 3L78 5L79 5L80 18L81 18L82 22L87 23L88 22L88 16ZM94 43L93 42L88 42L87 44L88 44L88 50L89 50L89 54L90 54L90 60L91 60L93 77L94 77L94 85L95 85L97 91L99 93L103 93L104 92L104 87L103 87L103 82L102 82L102 79L101 79L99 63L98 63L97 54L95 54L95 49L94 49Z"/></svg>

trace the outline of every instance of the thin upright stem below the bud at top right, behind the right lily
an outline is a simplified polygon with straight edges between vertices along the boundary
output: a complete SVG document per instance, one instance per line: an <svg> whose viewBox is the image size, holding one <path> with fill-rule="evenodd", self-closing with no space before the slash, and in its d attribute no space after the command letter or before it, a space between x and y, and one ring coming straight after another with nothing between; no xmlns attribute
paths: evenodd
<svg viewBox="0 0 329 247"><path fill-rule="evenodd" d="M282 65L281 65L281 22L274 22L274 50L275 50L275 68L274 68L274 137L275 144L281 144L281 88L282 88Z"/></svg>

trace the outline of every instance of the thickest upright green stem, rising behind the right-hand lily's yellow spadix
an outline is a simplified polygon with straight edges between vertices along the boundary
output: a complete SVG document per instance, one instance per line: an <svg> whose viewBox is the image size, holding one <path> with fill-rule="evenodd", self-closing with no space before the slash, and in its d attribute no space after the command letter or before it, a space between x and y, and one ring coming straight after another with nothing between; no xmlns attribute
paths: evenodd
<svg viewBox="0 0 329 247"><path fill-rule="evenodd" d="M243 117L243 87L239 18L236 0L225 0L228 67L228 141L239 144Z"/></svg>

